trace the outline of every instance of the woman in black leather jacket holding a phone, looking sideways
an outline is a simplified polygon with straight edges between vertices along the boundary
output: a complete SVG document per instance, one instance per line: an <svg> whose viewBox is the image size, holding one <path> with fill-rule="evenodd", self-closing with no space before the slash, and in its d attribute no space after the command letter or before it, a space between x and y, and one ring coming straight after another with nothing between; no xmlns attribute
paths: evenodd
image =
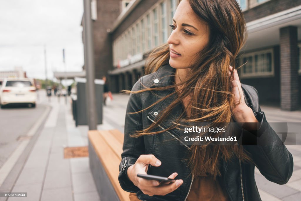
<svg viewBox="0 0 301 201"><path fill-rule="evenodd" d="M238 3L182 0L171 27L168 44L149 56L147 75L129 98L121 187L131 192L131 200L261 200L254 166L269 181L285 184L293 158L267 123L256 89L241 84L235 70L246 39ZM247 140L239 146L189 146L181 138L182 126L202 122L216 127L250 122L242 127ZM137 174L169 175L176 181L159 183Z"/></svg>

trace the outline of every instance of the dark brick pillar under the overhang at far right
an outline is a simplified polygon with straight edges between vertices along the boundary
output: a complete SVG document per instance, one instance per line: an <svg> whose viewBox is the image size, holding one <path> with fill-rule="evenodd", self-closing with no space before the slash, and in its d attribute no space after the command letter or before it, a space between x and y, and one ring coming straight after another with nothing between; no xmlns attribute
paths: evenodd
<svg viewBox="0 0 301 201"><path fill-rule="evenodd" d="M280 29L281 109L298 109L298 34L297 27Z"/></svg>

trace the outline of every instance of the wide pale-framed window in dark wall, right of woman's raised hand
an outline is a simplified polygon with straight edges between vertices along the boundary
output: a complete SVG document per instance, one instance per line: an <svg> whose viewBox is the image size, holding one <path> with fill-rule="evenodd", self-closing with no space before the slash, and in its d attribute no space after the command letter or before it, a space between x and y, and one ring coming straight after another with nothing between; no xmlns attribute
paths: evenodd
<svg viewBox="0 0 301 201"><path fill-rule="evenodd" d="M243 56L242 77L274 75L273 49L248 53Z"/></svg>

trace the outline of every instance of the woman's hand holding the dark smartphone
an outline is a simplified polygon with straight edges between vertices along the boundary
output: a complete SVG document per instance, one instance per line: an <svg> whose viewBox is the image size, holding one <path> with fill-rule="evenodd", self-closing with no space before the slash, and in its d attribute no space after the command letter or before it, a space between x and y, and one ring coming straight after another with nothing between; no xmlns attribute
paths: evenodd
<svg viewBox="0 0 301 201"><path fill-rule="evenodd" d="M158 167L161 165L161 162L152 154L140 155L135 164L131 165L127 170L129 179L142 191L142 193L149 196L164 196L176 190L183 184L182 179L178 179L174 183L163 184L156 180L147 180L137 177L137 174L147 174L147 168L149 164ZM172 173L168 178L174 179L177 175L178 173L175 172Z"/></svg>

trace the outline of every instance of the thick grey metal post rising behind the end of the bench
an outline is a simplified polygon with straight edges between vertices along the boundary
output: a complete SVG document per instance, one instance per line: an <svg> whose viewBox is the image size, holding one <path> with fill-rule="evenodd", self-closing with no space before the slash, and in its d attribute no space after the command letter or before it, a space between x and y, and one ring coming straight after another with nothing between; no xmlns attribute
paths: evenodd
<svg viewBox="0 0 301 201"><path fill-rule="evenodd" d="M95 72L94 72L94 46L93 46L93 27L91 19L91 0L84 0L84 31L86 46L86 78L88 86L88 124L89 130L97 129L97 115L95 102Z"/></svg>

